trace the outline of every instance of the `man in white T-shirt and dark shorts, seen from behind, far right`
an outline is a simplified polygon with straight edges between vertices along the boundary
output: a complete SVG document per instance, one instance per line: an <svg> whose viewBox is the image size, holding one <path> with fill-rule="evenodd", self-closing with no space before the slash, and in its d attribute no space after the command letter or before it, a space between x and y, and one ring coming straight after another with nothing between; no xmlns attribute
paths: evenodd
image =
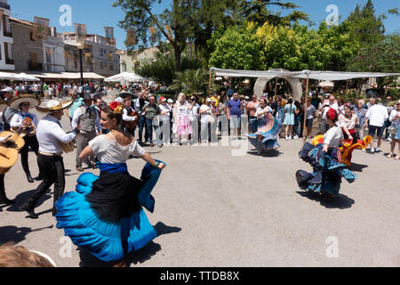
<svg viewBox="0 0 400 285"><path fill-rule="evenodd" d="M382 136L383 136L383 130L384 130L384 125L385 121L388 119L388 110L386 109L385 106L381 104L376 104L376 99L371 98L370 100L371 107L368 109L368 111L365 114L365 126L368 125L368 135L372 136L372 142L371 142L371 153L374 152L379 152L380 151L380 144L382 143ZM374 148L373 147L373 137L375 133L378 136L378 147Z"/></svg>

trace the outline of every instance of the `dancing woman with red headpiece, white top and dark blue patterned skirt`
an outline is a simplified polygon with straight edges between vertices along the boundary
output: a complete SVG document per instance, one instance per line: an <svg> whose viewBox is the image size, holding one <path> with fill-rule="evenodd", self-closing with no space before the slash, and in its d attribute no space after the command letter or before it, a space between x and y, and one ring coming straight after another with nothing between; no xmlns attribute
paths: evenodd
<svg viewBox="0 0 400 285"><path fill-rule="evenodd" d="M339 146L343 143L343 133L336 125L339 115L330 109L326 115L329 130L324 134L324 142L316 146L306 142L299 152L300 159L308 162L314 172L304 170L296 172L296 179L301 189L319 192L324 201L332 201L339 194L341 178L348 183L356 181L356 175L340 163Z"/></svg>

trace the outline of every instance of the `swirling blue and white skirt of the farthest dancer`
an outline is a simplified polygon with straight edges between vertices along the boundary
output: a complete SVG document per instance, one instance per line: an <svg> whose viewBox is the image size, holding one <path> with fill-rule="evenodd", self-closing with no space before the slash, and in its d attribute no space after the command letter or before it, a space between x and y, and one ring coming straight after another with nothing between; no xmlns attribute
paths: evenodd
<svg viewBox="0 0 400 285"><path fill-rule="evenodd" d="M257 132L254 134L247 134L249 142L260 151L278 149L280 145L277 139L282 130L281 121L274 118L271 113L268 113L260 117L258 123ZM259 135L262 136L261 141L258 139Z"/></svg>

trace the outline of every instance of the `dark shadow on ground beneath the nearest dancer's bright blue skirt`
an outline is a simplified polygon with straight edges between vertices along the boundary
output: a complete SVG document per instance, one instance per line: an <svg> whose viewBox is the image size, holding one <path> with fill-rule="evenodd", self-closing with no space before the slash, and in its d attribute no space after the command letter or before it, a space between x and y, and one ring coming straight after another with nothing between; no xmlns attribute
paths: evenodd
<svg viewBox="0 0 400 285"><path fill-rule="evenodd" d="M162 222L158 222L155 226L157 237L163 234L169 234L173 232L180 232L182 229L179 227L168 226ZM110 267L111 264L105 261L102 261L87 251L84 248L77 248L79 250L79 256L81 258L81 262L79 264L80 267ZM156 256L156 253L161 250L161 246L154 242L150 241L148 245L144 248L140 248L139 250L133 251L125 256L124 260L126 261L128 266L143 264L148 261L152 256Z"/></svg>

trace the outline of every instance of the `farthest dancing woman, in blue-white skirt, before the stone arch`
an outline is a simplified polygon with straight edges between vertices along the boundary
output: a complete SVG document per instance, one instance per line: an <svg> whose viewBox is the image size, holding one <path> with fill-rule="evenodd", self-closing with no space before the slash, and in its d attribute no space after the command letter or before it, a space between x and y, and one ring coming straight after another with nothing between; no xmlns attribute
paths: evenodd
<svg viewBox="0 0 400 285"><path fill-rule="evenodd" d="M258 129L255 134L248 134L249 141L258 149L258 154L262 151L276 150L279 143L277 137L282 129L282 123L272 116L273 110L267 106L267 100L260 99L260 107L255 116L258 119Z"/></svg>

